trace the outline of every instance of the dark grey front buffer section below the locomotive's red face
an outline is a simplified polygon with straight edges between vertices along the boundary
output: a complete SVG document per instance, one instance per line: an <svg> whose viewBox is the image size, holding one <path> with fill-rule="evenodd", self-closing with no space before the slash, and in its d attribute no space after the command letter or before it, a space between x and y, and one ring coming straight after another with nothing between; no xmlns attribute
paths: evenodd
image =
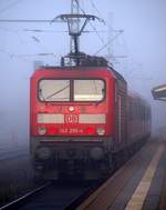
<svg viewBox="0 0 166 210"><path fill-rule="evenodd" d="M56 142L53 140L44 141L41 138L31 139L32 162L37 177L94 180L105 178L111 173L113 169L112 147L107 147L111 141L103 141L103 139L94 141L94 138L86 138L86 141L82 142L82 138L73 140L73 142L71 139L68 140L69 138L63 138L63 142ZM43 148L50 150L48 157L39 156L39 150L44 151Z"/></svg>

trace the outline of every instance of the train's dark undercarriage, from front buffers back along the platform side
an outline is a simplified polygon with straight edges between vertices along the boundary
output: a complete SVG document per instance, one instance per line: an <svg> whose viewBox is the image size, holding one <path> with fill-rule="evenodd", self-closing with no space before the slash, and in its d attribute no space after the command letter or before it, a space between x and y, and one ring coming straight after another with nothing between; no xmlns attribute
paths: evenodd
<svg viewBox="0 0 166 210"><path fill-rule="evenodd" d="M107 143L111 141L106 139L94 143L90 141L68 142L66 139L65 142L42 142L40 138L33 138L31 139L31 157L35 173L34 177L37 180L56 180L63 178L74 180L104 179L138 151L147 139L148 136L145 136L129 147L115 152L112 144L107 147ZM37 151L44 147L49 147L51 153L49 158L41 159ZM101 148L103 153L96 150L92 157L94 148Z"/></svg>

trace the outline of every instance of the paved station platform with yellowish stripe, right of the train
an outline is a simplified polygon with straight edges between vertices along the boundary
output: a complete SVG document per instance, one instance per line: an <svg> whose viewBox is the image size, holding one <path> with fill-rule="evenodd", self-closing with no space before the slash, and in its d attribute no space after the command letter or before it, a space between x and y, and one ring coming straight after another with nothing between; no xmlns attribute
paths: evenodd
<svg viewBox="0 0 166 210"><path fill-rule="evenodd" d="M166 141L149 140L76 210L166 210Z"/></svg>

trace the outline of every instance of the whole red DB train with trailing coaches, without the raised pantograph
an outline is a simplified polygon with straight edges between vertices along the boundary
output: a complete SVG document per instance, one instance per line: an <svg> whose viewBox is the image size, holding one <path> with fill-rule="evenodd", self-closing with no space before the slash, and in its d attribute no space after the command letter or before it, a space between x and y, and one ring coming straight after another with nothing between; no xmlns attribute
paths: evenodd
<svg viewBox="0 0 166 210"><path fill-rule="evenodd" d="M103 178L149 136L147 103L127 96L124 78L100 61L41 67L31 77L30 147L37 176Z"/></svg>

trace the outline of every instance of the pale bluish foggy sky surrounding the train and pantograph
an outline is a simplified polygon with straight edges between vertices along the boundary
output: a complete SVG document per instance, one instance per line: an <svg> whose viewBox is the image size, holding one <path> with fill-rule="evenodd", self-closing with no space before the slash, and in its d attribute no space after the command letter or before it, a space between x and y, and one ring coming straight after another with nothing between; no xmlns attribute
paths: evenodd
<svg viewBox="0 0 166 210"><path fill-rule="evenodd" d="M94 2L94 3L93 3ZM84 33L81 51L95 54L107 42L114 68L128 81L129 89L138 92L152 104L153 130L166 124L165 103L154 101L151 90L165 83L166 78L166 1L164 0L80 0L87 13L106 21L93 22ZM94 7L95 4L95 7ZM0 19L46 19L70 12L70 0L1 0ZM110 28L124 32L114 37ZM45 32L28 30L41 29ZM34 61L56 64L70 50L65 23L11 23L0 22L0 133L1 142L27 142L29 137L29 79ZM38 53L54 53L39 57ZM108 48L100 51L106 56ZM121 58L123 57L123 58Z"/></svg>

